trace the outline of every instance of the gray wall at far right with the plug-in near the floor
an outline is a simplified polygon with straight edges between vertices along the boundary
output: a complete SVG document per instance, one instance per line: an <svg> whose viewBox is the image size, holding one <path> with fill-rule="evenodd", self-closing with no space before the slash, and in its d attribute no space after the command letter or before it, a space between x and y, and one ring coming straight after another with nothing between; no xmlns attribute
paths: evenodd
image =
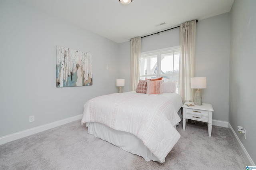
<svg viewBox="0 0 256 170"><path fill-rule="evenodd" d="M230 12L229 123L256 162L256 1L235 0ZM246 140L237 132L246 129Z"/></svg>

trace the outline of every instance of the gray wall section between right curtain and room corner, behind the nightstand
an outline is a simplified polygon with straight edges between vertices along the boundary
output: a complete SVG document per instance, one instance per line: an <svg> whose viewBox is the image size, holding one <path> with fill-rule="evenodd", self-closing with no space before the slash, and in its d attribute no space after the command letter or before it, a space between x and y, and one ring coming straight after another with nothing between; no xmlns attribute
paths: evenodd
<svg viewBox="0 0 256 170"><path fill-rule="evenodd" d="M196 77L206 77L203 103L211 103L213 119L228 122L230 13L198 21Z"/></svg>

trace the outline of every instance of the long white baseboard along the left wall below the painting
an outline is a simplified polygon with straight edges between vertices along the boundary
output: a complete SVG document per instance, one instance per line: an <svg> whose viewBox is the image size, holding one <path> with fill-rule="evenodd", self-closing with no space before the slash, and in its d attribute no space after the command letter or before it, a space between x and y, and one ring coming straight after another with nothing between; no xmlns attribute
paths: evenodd
<svg viewBox="0 0 256 170"><path fill-rule="evenodd" d="M64 124L67 124L67 123L70 123L70 122L73 122L73 121L77 121L77 120L80 120L80 119L82 119L82 114L74 116L74 117L70 117L70 118L67 118L67 119L62 119L60 121L56 121L56 122L53 122L53 123L48 123L46 125L42 125L42 126L39 126L39 127L34 127L34 128L30 128L30 129L27 129L27 130L20 131L20 132L16 132L16 133L13 133L13 134L8 134L6 136L0 137L0 144L11 142L13 140L17 140L17 139L20 139L20 138L23 138L23 137L26 137L26 136L30 136L32 134L36 134L38 132L42 132L44 130L48 130L50 128L58 127L58 126L61 126L61 125L64 125Z"/></svg>

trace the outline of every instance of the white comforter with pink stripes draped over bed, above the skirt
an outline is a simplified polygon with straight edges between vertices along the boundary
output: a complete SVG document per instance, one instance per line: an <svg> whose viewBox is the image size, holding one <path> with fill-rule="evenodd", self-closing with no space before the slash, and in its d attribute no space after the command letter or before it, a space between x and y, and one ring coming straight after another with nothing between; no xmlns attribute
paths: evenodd
<svg viewBox="0 0 256 170"><path fill-rule="evenodd" d="M177 109L182 105L181 100L172 101L167 96L128 92L95 97L84 105L82 124L98 122L132 133L164 162L180 138L174 125L180 122Z"/></svg>

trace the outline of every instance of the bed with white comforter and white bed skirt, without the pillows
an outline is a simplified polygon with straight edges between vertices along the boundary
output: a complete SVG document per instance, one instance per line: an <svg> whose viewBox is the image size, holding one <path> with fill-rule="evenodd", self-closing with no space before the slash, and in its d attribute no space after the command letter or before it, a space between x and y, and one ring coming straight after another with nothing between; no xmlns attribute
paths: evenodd
<svg viewBox="0 0 256 170"><path fill-rule="evenodd" d="M162 163L180 138L181 107L176 93L113 93L87 101L81 123L89 134Z"/></svg>

